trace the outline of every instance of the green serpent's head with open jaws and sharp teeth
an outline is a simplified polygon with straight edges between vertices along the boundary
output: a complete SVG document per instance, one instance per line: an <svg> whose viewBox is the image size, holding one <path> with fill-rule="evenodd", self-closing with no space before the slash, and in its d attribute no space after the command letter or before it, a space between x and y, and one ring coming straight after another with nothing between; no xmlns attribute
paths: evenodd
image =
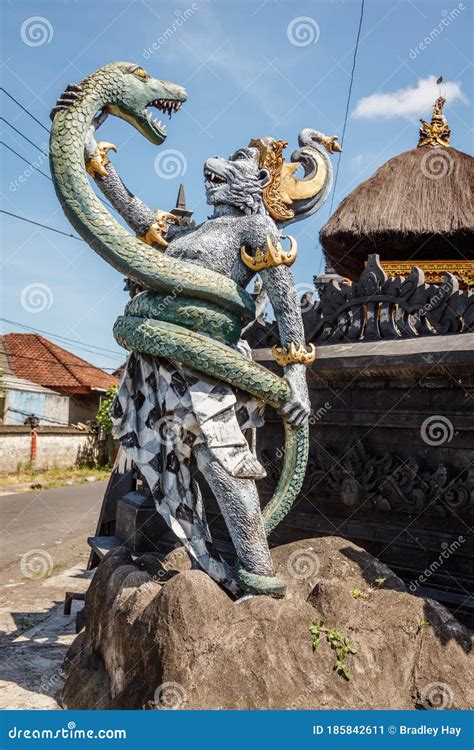
<svg viewBox="0 0 474 750"><path fill-rule="evenodd" d="M104 65L82 81L81 88L98 94L106 112L126 120L158 145L166 138L166 127L153 116L150 108L155 107L171 117L187 98L182 86L153 78L140 65L127 62Z"/></svg>

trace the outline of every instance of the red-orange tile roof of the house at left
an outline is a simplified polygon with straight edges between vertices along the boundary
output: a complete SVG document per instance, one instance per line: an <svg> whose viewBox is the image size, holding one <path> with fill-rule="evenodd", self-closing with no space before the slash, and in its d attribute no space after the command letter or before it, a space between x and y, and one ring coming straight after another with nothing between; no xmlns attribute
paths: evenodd
<svg viewBox="0 0 474 750"><path fill-rule="evenodd" d="M62 393L87 393L118 383L117 378L104 370L36 333L8 333L0 339L11 374L19 378Z"/></svg>

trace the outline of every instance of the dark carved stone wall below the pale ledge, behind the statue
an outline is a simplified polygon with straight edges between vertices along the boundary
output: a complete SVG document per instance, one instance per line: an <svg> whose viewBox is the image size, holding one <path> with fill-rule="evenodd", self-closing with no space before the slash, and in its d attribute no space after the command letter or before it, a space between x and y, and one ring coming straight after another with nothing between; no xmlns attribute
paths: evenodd
<svg viewBox="0 0 474 750"><path fill-rule="evenodd" d="M343 536L472 622L474 333L325 344L317 354L306 479L272 544ZM278 369L269 349L254 356ZM283 445L271 409L257 445L266 502Z"/></svg>

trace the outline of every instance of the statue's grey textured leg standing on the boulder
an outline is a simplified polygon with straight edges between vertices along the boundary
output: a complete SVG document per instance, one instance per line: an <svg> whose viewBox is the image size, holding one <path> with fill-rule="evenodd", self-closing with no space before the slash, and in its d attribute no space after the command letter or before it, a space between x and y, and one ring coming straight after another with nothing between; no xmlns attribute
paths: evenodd
<svg viewBox="0 0 474 750"><path fill-rule="evenodd" d="M284 584L273 575L254 480L233 477L204 444L195 446L195 456L219 504L237 552L237 574L242 588L251 593L283 596Z"/></svg>

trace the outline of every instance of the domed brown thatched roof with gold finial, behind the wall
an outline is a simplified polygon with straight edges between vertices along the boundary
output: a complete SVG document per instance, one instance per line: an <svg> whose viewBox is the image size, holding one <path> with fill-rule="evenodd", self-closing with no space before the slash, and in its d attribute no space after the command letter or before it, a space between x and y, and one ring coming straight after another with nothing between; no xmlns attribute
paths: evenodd
<svg viewBox="0 0 474 750"><path fill-rule="evenodd" d="M345 198L321 230L328 261L357 279L381 260L474 260L473 163L450 147L390 159Z"/></svg>

